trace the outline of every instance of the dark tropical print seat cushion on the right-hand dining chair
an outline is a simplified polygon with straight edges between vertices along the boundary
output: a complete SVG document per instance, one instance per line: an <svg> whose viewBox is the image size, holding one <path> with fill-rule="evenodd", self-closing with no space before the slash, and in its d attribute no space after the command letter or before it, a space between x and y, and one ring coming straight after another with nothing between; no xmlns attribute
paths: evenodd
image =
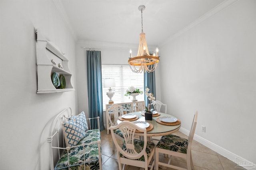
<svg viewBox="0 0 256 170"><path fill-rule="evenodd" d="M156 147L186 154L188 148L188 140L173 134L169 134L162 136Z"/></svg>

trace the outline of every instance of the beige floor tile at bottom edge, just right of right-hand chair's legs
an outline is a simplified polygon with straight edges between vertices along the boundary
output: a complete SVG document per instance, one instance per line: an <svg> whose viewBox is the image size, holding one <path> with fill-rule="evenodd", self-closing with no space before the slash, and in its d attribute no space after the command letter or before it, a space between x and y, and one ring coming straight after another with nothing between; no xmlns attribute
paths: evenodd
<svg viewBox="0 0 256 170"><path fill-rule="evenodd" d="M224 170L217 155L192 150L192 160L195 166L209 170Z"/></svg>

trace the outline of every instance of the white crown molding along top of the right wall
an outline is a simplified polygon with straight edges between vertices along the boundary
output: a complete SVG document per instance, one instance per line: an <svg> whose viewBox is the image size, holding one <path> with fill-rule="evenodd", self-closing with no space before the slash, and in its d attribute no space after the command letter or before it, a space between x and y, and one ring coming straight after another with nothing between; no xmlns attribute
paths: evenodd
<svg viewBox="0 0 256 170"><path fill-rule="evenodd" d="M222 3L220 3L218 6L216 6L215 8L213 8L212 10L206 12L204 15L202 15L200 18L194 20L192 23L190 23L188 26L184 27L182 30L180 30L179 32L177 32L176 34L173 34L172 36L168 37L166 40L164 40L164 42L160 43L159 46L165 46L166 44L168 44L169 42L171 42L172 40L174 40L175 38L181 36L182 34L184 34L185 32L187 32L188 30L190 30L191 28L193 28L194 26L200 24L201 22L204 22L205 20L207 20L208 18L216 15L218 12L221 12L222 10L228 8L229 6L233 5L234 3L238 2L239 0L225 0Z"/></svg>

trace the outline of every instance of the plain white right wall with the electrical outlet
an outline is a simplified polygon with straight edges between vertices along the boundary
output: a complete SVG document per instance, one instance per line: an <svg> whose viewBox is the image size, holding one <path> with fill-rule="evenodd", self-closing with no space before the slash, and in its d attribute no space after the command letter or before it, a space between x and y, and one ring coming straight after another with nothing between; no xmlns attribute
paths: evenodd
<svg viewBox="0 0 256 170"><path fill-rule="evenodd" d="M190 130L198 110L198 136L255 164L256 1L240 0L160 47L168 112Z"/></svg>

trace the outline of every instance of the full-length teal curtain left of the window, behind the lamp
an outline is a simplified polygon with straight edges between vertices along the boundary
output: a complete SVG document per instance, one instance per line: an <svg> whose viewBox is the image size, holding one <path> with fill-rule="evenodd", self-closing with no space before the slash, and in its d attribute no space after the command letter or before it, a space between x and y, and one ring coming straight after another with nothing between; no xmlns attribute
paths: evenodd
<svg viewBox="0 0 256 170"><path fill-rule="evenodd" d="M100 51L87 50L86 56L89 118L100 116L100 130L104 130ZM91 127L98 128L97 120L92 121Z"/></svg>

